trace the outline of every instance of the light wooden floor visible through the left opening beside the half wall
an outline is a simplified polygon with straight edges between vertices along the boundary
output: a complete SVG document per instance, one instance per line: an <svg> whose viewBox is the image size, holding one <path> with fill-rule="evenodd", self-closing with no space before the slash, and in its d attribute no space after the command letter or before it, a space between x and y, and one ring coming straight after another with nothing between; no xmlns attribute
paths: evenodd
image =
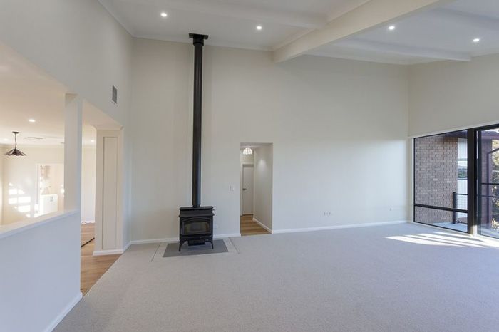
<svg viewBox="0 0 499 332"><path fill-rule="evenodd" d="M106 256L92 256L96 240L81 247L81 286L80 290L85 295L99 278L108 271L120 254Z"/></svg>

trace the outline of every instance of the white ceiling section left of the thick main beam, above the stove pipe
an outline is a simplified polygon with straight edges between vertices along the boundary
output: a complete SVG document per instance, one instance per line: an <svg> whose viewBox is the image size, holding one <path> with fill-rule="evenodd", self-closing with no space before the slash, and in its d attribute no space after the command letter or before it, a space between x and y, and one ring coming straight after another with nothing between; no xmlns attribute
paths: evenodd
<svg viewBox="0 0 499 332"><path fill-rule="evenodd" d="M190 42L202 33L207 45L272 50L367 0L99 1L135 37Z"/></svg>

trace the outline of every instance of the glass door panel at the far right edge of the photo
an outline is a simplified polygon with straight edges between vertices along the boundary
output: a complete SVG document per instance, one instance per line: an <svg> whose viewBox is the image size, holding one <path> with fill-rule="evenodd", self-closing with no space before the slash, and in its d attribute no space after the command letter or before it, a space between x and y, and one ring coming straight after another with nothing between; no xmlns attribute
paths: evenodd
<svg viewBox="0 0 499 332"><path fill-rule="evenodd" d="M499 127L477 131L478 234L499 238Z"/></svg>

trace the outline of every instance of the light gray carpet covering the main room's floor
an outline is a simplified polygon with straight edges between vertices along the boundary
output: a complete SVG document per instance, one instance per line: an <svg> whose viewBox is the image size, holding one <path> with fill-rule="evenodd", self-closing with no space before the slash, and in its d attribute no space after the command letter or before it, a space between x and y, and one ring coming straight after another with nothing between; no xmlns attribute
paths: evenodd
<svg viewBox="0 0 499 332"><path fill-rule="evenodd" d="M499 331L499 249L413 224L134 245L56 331Z"/></svg>

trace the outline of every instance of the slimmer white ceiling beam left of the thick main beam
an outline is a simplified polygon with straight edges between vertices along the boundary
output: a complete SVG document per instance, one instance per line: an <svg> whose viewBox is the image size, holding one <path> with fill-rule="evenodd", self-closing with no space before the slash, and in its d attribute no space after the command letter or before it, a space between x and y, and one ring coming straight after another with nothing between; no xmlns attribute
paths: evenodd
<svg viewBox="0 0 499 332"><path fill-rule="evenodd" d="M107 2L108 0L100 0ZM116 2L155 6L158 9L191 11L201 14L245 19L258 23L283 24L299 28L316 29L327 24L327 14L306 14L294 11L285 11L228 3L220 0L117 0Z"/></svg>

